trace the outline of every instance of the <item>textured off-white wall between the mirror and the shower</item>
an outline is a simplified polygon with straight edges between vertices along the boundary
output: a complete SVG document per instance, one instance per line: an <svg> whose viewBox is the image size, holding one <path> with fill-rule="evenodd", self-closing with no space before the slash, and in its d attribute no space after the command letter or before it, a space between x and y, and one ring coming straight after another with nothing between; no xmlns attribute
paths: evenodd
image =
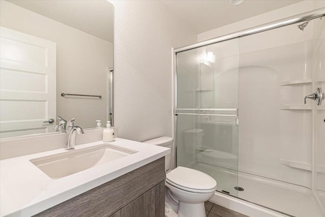
<svg viewBox="0 0 325 217"><path fill-rule="evenodd" d="M172 135L171 48L196 34L159 1L110 1L115 9L114 95L119 137Z"/></svg>

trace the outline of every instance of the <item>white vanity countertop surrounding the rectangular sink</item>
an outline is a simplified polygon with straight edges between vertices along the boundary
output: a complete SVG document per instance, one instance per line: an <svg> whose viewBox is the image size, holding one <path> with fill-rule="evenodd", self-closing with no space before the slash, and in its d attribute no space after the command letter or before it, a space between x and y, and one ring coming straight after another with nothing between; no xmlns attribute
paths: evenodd
<svg viewBox="0 0 325 217"><path fill-rule="evenodd" d="M76 149L100 144L103 141ZM120 138L109 144L138 152L59 179L51 179L29 160L69 151L65 148L0 161L0 216L34 215L170 153L169 148Z"/></svg>

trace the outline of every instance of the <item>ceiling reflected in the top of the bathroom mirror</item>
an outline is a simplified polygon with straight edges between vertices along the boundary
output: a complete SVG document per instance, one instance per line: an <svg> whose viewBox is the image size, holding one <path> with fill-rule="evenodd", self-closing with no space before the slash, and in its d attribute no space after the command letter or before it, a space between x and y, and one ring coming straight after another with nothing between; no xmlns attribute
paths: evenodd
<svg viewBox="0 0 325 217"><path fill-rule="evenodd" d="M113 43L114 7L106 0L7 0Z"/></svg>

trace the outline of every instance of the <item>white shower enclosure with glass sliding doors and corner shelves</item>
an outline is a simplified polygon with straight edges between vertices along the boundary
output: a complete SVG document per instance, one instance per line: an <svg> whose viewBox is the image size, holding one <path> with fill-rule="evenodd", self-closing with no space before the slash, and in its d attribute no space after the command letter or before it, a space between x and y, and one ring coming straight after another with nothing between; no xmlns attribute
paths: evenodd
<svg viewBox="0 0 325 217"><path fill-rule="evenodd" d="M175 62L176 166L229 196L325 216L325 19L192 47Z"/></svg>

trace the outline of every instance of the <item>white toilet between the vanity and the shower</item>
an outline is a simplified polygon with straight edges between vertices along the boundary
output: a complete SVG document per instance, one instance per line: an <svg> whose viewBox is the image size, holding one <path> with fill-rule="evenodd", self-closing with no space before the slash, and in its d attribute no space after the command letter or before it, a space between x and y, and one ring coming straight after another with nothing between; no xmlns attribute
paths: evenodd
<svg viewBox="0 0 325 217"><path fill-rule="evenodd" d="M171 148L165 156L166 217L206 217L204 202L209 200L217 188L217 182L209 175L186 167L171 170L173 138L159 137L145 141L151 145Z"/></svg>

